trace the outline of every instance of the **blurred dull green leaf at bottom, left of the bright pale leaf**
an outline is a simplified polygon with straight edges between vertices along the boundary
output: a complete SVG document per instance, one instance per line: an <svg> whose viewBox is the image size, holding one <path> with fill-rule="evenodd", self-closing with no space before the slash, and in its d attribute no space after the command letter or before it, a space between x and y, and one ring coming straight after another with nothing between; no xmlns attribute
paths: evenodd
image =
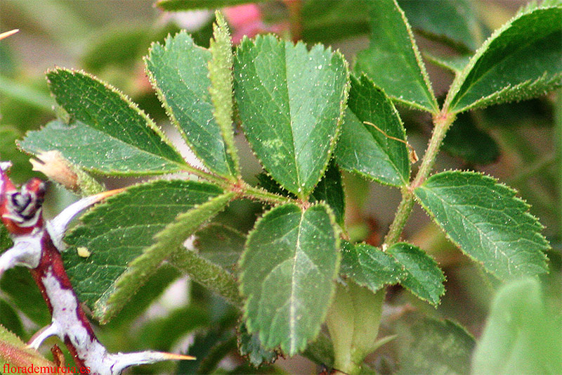
<svg viewBox="0 0 562 375"><path fill-rule="evenodd" d="M398 374L469 374L475 342L462 326L425 318L409 329Z"/></svg>

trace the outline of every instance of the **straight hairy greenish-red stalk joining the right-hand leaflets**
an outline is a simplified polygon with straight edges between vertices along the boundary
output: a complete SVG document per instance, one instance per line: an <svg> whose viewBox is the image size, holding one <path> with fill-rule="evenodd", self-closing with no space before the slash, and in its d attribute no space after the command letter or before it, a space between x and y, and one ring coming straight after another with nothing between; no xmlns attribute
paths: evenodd
<svg viewBox="0 0 562 375"><path fill-rule="evenodd" d="M410 186L402 190L402 201L398 205L394 221L384 239L383 250L400 239L400 234L402 234L406 221L414 207L414 189L423 184L429 173L431 173L431 168L433 168L439 148L453 121L455 121L455 113L449 113L446 109L433 117L433 134L431 134L431 139L429 139L424 158L421 159L421 166Z"/></svg>

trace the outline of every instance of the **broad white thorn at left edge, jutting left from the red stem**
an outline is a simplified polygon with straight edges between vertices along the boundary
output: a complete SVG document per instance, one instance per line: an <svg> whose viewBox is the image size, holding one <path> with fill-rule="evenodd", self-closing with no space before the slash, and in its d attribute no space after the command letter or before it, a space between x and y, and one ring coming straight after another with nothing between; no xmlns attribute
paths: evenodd
<svg viewBox="0 0 562 375"><path fill-rule="evenodd" d="M38 231L29 236L21 236L14 240L12 248L0 255L0 277L8 269L16 266L35 268L41 260L41 236Z"/></svg>

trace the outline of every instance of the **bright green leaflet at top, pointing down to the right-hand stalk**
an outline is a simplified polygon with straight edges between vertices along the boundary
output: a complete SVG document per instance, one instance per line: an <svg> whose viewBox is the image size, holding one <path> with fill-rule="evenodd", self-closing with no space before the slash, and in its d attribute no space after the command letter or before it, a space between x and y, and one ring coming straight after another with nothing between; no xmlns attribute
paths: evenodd
<svg viewBox="0 0 562 375"><path fill-rule="evenodd" d="M404 12L395 0L370 1L371 42L358 53L365 72L396 101L436 113L438 105Z"/></svg>

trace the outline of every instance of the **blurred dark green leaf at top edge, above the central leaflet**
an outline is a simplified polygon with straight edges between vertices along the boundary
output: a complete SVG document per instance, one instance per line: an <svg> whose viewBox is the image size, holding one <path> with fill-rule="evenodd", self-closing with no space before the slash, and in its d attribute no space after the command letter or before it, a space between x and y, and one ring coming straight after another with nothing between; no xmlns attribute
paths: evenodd
<svg viewBox="0 0 562 375"><path fill-rule="evenodd" d="M356 0L303 1L303 41L327 43L357 34L367 34L369 15L357 9Z"/></svg>

